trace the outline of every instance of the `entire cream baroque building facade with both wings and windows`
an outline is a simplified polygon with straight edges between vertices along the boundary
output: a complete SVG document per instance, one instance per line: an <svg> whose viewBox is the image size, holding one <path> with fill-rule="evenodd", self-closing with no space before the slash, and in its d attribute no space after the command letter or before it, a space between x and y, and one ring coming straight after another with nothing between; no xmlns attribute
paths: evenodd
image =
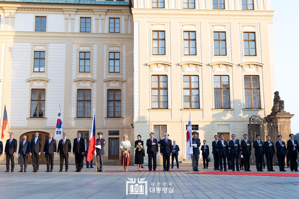
<svg viewBox="0 0 299 199"><path fill-rule="evenodd" d="M18 141L54 133L59 105L68 138L88 140L94 108L106 163L119 163L124 134L150 132L168 133L183 160L189 112L208 145L241 140L250 116L271 112L270 0L0 3L0 113Z"/></svg>

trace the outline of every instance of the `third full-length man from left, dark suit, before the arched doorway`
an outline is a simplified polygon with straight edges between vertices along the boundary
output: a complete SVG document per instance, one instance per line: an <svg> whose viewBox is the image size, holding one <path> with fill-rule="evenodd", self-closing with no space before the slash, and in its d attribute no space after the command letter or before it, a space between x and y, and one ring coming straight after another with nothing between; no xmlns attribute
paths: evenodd
<svg viewBox="0 0 299 199"><path fill-rule="evenodd" d="M33 171L31 173L38 172L38 168L40 166L41 139L38 135L38 132L35 132L34 138L32 138L30 142L30 156L33 166Z"/></svg>

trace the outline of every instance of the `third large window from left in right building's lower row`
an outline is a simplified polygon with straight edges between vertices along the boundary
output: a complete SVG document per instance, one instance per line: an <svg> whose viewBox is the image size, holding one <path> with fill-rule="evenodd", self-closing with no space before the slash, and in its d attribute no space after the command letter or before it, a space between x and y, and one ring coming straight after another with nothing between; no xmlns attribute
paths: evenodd
<svg viewBox="0 0 299 199"><path fill-rule="evenodd" d="M214 76L215 108L230 108L230 83L228 76Z"/></svg>

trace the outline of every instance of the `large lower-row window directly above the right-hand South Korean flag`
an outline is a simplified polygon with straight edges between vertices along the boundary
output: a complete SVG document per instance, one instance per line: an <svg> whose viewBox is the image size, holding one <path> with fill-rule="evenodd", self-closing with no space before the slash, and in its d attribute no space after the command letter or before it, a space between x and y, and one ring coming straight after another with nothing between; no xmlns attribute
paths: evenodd
<svg viewBox="0 0 299 199"><path fill-rule="evenodd" d="M199 83L197 75L183 76L184 108L199 108Z"/></svg>

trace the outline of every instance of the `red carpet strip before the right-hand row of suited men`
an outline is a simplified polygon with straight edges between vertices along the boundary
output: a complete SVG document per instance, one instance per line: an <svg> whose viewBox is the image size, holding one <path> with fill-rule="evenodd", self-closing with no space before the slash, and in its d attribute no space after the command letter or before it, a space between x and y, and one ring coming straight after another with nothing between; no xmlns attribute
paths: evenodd
<svg viewBox="0 0 299 199"><path fill-rule="evenodd" d="M247 176L283 176L283 177L299 177L299 173L275 173L275 172L196 172L189 174L211 174L211 175L247 175Z"/></svg>

